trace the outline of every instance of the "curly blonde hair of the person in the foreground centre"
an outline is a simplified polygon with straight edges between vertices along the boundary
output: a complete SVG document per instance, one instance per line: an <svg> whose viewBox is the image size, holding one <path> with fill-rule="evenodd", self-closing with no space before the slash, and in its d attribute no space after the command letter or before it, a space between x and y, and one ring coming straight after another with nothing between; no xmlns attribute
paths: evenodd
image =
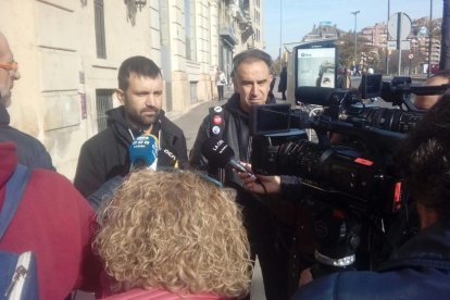
<svg viewBox="0 0 450 300"><path fill-rule="evenodd" d="M239 298L252 263L230 192L191 172L138 171L98 216L93 247L121 289Z"/></svg>

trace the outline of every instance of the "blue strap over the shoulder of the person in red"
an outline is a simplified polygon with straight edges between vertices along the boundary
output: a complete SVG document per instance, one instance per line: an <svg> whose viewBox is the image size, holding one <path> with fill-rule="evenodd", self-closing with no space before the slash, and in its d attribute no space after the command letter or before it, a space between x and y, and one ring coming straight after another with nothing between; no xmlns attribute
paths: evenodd
<svg viewBox="0 0 450 300"><path fill-rule="evenodd" d="M7 192L3 207L0 211L0 239L3 237L4 232L7 232L14 213L18 208L28 177L29 168L22 164L17 164L13 175L7 183Z"/></svg>

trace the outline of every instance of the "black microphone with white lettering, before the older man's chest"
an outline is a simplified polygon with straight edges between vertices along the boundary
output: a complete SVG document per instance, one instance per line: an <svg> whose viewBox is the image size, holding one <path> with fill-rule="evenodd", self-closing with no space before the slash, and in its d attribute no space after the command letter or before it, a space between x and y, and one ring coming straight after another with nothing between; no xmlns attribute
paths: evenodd
<svg viewBox="0 0 450 300"><path fill-rule="evenodd" d="M216 167L229 165L239 172L252 175L234 158L235 151L223 139L208 138L202 145L201 153L210 164Z"/></svg>

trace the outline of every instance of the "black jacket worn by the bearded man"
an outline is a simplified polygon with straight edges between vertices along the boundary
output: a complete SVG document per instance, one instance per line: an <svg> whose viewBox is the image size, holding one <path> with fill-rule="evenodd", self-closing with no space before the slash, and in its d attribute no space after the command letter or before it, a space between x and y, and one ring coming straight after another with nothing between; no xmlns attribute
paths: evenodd
<svg viewBox="0 0 450 300"><path fill-rule="evenodd" d="M125 121L124 107L107 112L108 128L88 139L78 158L74 185L88 197L105 182L129 172L128 147L134 137L141 133L129 129ZM160 148L171 150L178 160L178 166L188 167L186 138L183 130L164 116L161 111L159 126L153 126L160 137ZM154 132L154 130L153 130Z"/></svg>

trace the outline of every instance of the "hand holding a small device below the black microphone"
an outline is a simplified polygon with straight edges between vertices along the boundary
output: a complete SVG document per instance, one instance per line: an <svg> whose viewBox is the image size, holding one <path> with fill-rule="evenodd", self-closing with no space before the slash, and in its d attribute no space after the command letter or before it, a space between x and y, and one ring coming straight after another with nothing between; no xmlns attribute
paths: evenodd
<svg viewBox="0 0 450 300"><path fill-rule="evenodd" d="M248 171L247 173L238 172L243 187L247 190L257 193L278 193L280 190L282 178L279 176L263 176L253 175L251 172L251 164L241 163Z"/></svg>

